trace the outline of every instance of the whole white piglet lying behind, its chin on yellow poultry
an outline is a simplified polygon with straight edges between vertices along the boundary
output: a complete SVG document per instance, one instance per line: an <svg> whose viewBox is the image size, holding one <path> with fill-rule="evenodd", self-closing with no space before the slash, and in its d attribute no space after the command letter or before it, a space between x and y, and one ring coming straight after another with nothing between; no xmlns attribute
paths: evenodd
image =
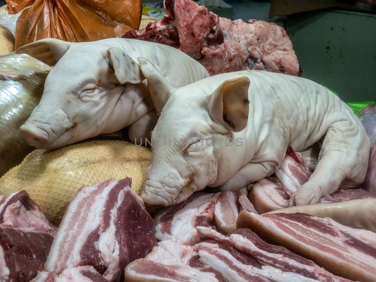
<svg viewBox="0 0 376 282"><path fill-rule="evenodd" d="M49 38L24 45L16 53L55 65L39 105L20 127L27 142L41 149L60 148L129 125L133 142L148 137L157 116L135 62L139 56L151 60L174 87L209 76L200 63L173 47L132 39L71 43Z"/></svg>

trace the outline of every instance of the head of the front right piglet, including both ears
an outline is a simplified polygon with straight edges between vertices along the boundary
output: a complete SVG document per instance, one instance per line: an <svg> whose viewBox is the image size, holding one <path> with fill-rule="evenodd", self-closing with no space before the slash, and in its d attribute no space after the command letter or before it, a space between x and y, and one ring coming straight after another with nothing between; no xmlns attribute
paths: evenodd
<svg viewBox="0 0 376 282"><path fill-rule="evenodd" d="M250 81L227 80L212 93L197 83L174 89L152 63L138 60L159 115L141 197L148 204L172 205L215 182L226 150L215 140L246 127Z"/></svg>

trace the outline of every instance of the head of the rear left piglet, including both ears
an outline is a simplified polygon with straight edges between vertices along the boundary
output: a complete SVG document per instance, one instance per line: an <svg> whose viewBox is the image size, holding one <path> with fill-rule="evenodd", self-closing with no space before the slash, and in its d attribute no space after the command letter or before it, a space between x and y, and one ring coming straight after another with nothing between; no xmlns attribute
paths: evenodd
<svg viewBox="0 0 376 282"><path fill-rule="evenodd" d="M39 105L20 127L30 145L55 149L122 128L114 111L121 108L124 84L138 84L144 77L124 51L109 47L100 41L49 38L16 51L54 65Z"/></svg>

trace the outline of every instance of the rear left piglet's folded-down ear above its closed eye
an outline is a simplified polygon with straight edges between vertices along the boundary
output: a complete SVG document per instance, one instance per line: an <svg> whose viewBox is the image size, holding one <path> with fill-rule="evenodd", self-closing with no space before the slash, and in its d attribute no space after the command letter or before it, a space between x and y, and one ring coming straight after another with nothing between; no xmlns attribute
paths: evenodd
<svg viewBox="0 0 376 282"><path fill-rule="evenodd" d="M115 71L115 77L120 84L137 84L145 79L138 63L120 48L109 48L107 56L110 67Z"/></svg>

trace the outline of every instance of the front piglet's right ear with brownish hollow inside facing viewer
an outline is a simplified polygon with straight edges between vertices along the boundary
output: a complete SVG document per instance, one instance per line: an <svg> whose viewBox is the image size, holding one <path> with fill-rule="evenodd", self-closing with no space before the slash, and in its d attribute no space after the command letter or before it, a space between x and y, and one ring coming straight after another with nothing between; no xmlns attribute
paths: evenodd
<svg viewBox="0 0 376 282"><path fill-rule="evenodd" d="M233 132L242 131L248 122L249 84L249 78L242 76L218 86L207 96L211 118Z"/></svg>

